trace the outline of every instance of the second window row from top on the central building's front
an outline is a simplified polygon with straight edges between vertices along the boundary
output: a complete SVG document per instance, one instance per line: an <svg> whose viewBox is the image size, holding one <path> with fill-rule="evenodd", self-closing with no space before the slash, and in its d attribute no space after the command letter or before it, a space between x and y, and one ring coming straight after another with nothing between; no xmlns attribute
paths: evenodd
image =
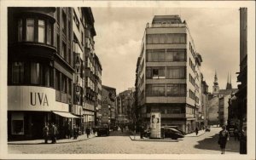
<svg viewBox="0 0 256 160"><path fill-rule="evenodd" d="M147 61L186 61L186 49L147 49Z"/></svg>

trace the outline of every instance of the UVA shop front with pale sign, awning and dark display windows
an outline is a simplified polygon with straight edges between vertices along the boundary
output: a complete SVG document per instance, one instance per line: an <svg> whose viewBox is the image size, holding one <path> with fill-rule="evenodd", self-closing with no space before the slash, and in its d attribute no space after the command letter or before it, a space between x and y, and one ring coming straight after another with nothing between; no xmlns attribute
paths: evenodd
<svg viewBox="0 0 256 160"><path fill-rule="evenodd" d="M55 89L34 86L8 87L8 139L43 138L45 123L55 123L59 136L63 126L77 118L68 112L68 104L55 101Z"/></svg>

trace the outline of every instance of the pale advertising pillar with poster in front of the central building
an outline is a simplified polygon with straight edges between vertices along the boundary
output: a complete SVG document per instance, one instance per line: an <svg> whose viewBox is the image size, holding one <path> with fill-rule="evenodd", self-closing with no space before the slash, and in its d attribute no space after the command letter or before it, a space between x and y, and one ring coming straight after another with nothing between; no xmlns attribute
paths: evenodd
<svg viewBox="0 0 256 160"><path fill-rule="evenodd" d="M151 112L150 115L150 138L161 138L161 117L160 112Z"/></svg>

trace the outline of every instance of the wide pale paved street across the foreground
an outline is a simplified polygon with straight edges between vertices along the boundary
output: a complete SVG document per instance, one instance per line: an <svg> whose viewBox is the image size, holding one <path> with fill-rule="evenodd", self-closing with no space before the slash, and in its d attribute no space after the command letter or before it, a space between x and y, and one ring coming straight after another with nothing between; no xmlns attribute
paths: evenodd
<svg viewBox="0 0 256 160"><path fill-rule="evenodd" d="M115 131L108 137L95 137L63 144L9 145L9 153L78 153L78 154L220 154L218 132L201 136L185 137L173 141L137 141L131 140L129 132ZM230 137L226 146L226 154L239 154L239 142Z"/></svg>

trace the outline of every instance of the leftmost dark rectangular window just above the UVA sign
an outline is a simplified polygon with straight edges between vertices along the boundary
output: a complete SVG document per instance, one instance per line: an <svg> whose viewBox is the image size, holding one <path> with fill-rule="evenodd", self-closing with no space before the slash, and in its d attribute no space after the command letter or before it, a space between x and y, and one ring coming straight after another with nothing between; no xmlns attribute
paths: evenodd
<svg viewBox="0 0 256 160"><path fill-rule="evenodd" d="M13 62L12 80L13 83L24 83L24 62Z"/></svg>

